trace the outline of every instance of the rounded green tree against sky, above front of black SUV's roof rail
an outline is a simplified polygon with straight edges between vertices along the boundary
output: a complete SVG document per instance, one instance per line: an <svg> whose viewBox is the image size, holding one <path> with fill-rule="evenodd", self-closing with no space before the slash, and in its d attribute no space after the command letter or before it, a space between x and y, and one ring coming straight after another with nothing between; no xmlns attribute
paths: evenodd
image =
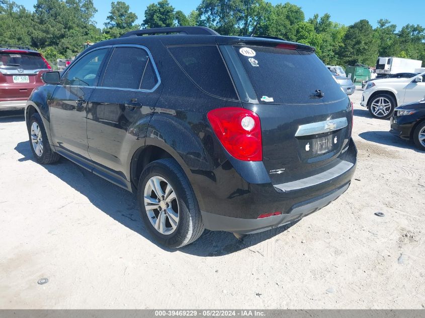
<svg viewBox="0 0 425 318"><path fill-rule="evenodd" d="M179 17L176 17L174 7L169 4L167 0L161 0L157 4L150 4L145 11L145 19L143 20L143 27L145 28L165 28L174 27L175 20L178 24L186 23L183 21L183 12L179 12ZM186 16L185 16L186 18Z"/></svg>

